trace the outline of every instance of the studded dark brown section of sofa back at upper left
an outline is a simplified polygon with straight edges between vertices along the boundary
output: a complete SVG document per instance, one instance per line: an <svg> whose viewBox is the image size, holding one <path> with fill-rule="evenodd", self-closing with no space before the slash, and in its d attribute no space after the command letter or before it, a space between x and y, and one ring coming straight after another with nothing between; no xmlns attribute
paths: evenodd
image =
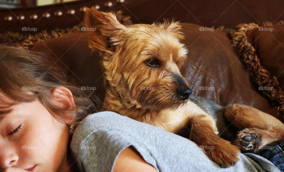
<svg viewBox="0 0 284 172"><path fill-rule="evenodd" d="M86 7L117 11L141 0L80 0L46 6L0 8L0 33L13 31L37 33L54 28L67 28L83 22ZM36 29L35 29L36 28Z"/></svg>

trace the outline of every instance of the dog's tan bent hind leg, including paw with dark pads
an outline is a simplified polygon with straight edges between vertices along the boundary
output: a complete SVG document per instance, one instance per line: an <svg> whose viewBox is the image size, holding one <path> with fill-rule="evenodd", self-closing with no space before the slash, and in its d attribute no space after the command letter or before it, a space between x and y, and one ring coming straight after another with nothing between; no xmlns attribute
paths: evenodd
<svg viewBox="0 0 284 172"><path fill-rule="evenodd" d="M257 151L267 144L284 140L284 124L253 107L234 104L225 117L239 130L235 144L242 150Z"/></svg>

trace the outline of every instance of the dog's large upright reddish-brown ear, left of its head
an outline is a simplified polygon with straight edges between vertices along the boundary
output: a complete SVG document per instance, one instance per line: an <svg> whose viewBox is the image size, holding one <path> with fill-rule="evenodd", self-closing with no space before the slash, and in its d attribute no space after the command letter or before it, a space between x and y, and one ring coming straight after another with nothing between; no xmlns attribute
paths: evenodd
<svg viewBox="0 0 284 172"><path fill-rule="evenodd" d="M99 12L94 7L87 9L84 23L86 30L91 32L88 38L91 49L99 49L108 53L114 52L115 45L119 42L118 35L125 26L120 24L113 13Z"/></svg>

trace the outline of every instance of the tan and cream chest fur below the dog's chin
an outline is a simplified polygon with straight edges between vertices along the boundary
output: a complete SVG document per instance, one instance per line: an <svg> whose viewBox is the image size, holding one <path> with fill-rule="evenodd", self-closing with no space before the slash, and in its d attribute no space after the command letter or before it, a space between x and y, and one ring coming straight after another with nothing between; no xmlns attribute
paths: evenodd
<svg viewBox="0 0 284 172"><path fill-rule="evenodd" d="M113 91L112 96L119 97L119 94L115 94ZM194 97L193 100L196 101L196 99L197 98ZM106 96L104 101L104 110L110 110L118 114L128 116L134 120L148 123L166 131L183 136L181 133L183 130L185 133L190 133L188 131L190 130L190 120L192 118L195 118L200 114L208 113L202 110L201 107L199 107L194 101L188 100L185 104L179 105L176 109L169 109L165 107L162 110L155 111L137 108L137 106L130 106L125 104L125 102L120 98L110 99L109 96ZM214 123L215 133L218 134L214 114L212 116L213 117L210 120L212 123Z"/></svg>

